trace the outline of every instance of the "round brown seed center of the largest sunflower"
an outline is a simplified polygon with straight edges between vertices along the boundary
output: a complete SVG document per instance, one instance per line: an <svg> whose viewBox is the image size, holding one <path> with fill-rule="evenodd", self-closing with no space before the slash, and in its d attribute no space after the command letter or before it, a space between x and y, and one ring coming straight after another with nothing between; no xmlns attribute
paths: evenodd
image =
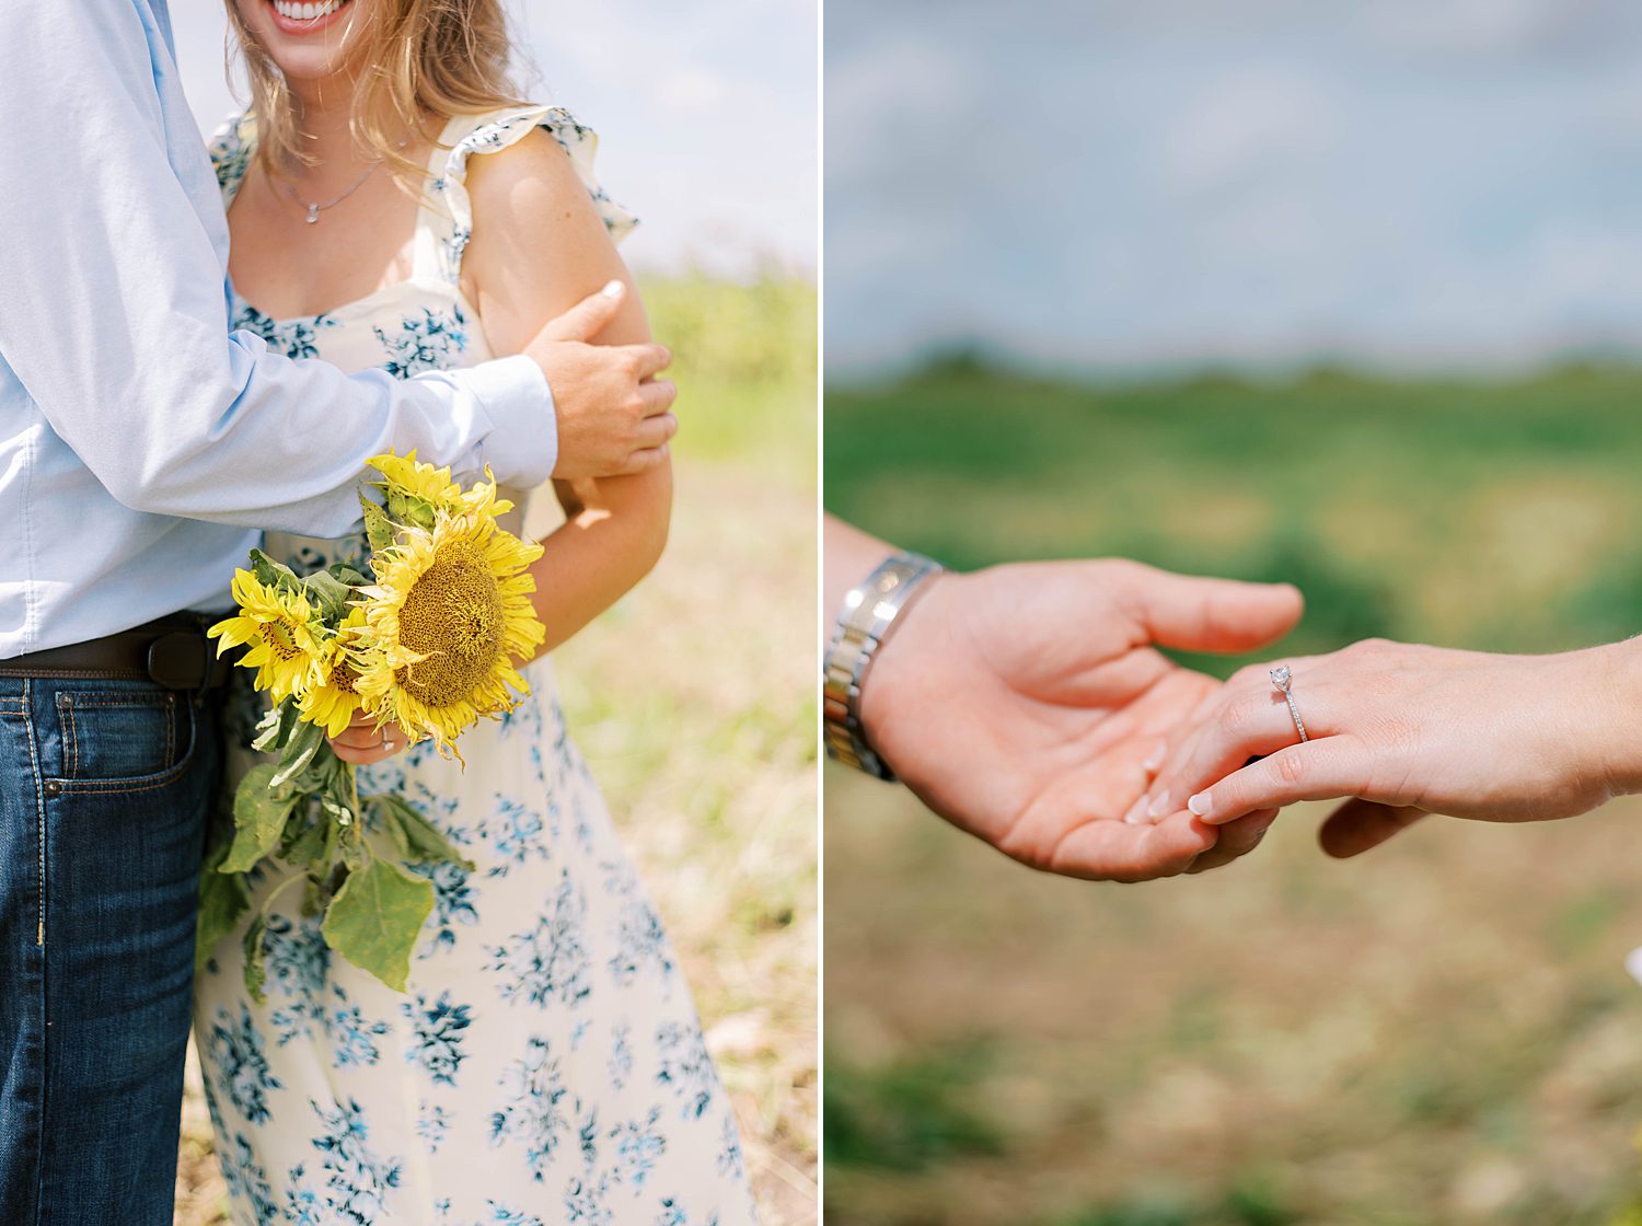
<svg viewBox="0 0 1642 1226"><path fill-rule="evenodd" d="M443 545L399 611L399 642L425 653L397 681L430 707L471 699L502 650L502 594L484 558L465 542Z"/></svg>

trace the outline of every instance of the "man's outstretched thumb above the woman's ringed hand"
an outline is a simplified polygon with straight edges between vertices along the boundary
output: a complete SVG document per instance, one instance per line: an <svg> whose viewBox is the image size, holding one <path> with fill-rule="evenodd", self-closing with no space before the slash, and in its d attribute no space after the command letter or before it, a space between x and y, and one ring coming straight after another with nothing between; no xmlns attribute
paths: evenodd
<svg viewBox="0 0 1642 1226"><path fill-rule="evenodd" d="M1251 652L1292 630L1305 611L1287 583L1200 579L1138 563L1118 597L1153 642L1189 652Z"/></svg>

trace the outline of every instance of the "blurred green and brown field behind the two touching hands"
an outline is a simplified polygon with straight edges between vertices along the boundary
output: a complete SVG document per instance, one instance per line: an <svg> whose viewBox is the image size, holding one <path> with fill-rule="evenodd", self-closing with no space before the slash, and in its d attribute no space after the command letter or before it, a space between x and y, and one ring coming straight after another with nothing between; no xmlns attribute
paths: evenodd
<svg viewBox="0 0 1642 1226"><path fill-rule="evenodd" d="M1292 579L1277 655L1553 650L1642 630L1639 402L1637 371L1098 387L952 361L829 389L824 496L961 566ZM829 770L826 1221L1642 1221L1642 804L1432 819L1350 863L1319 816L1222 873L1100 886Z"/></svg>

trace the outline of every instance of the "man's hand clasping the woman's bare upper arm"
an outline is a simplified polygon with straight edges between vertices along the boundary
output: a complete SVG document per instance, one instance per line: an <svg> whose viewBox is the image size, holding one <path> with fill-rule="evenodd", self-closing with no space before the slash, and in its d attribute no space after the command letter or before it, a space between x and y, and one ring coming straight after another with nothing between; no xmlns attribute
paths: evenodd
<svg viewBox="0 0 1642 1226"><path fill-rule="evenodd" d="M553 389L558 417L560 481L629 476L667 458L667 440L678 433L668 412L677 389L655 376L673 355L662 345L593 345L609 323L627 287L609 282L548 323L525 346Z"/></svg>

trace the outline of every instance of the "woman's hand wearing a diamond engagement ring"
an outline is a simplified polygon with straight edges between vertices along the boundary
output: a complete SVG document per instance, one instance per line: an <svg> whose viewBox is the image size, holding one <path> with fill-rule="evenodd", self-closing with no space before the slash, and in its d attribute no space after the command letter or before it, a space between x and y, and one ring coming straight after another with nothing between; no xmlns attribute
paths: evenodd
<svg viewBox="0 0 1642 1226"><path fill-rule="evenodd" d="M1245 668L1172 747L1149 814L1186 809L1218 826L1355 798L1322 830L1323 849L1345 857L1429 812L1550 821L1642 789L1632 643L1519 656L1363 642L1287 663L1310 740L1299 743L1271 668Z"/></svg>

